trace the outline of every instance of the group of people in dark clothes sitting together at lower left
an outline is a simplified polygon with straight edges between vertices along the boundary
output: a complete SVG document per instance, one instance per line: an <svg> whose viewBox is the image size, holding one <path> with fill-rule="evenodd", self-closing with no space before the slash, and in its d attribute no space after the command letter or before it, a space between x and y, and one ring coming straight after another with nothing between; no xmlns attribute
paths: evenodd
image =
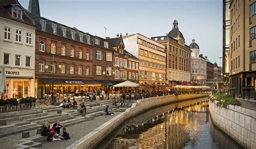
<svg viewBox="0 0 256 149"><path fill-rule="evenodd" d="M61 128L63 132L60 135L59 133ZM52 125L52 128L50 128L50 122L46 121L45 124L41 127L41 136L48 137L48 141L70 139L69 132L66 131L66 127L60 125L59 120L57 120L57 122Z"/></svg>

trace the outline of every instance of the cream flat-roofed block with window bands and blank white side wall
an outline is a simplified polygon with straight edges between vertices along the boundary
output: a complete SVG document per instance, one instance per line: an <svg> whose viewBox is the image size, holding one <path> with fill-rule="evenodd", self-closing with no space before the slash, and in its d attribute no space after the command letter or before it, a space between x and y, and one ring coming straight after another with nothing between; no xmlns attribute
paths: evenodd
<svg viewBox="0 0 256 149"><path fill-rule="evenodd" d="M164 45L139 33L123 36L123 41L125 49L139 59L139 83L164 84L166 73ZM131 65L134 68L133 63ZM135 68L137 68L137 65L135 65Z"/></svg>

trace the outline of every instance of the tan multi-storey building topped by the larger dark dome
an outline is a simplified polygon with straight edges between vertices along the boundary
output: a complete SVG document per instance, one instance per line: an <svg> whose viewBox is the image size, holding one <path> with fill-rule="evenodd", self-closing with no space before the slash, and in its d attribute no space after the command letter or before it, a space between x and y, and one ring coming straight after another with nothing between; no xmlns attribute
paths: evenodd
<svg viewBox="0 0 256 149"><path fill-rule="evenodd" d="M185 44L185 38L179 31L178 21L173 21L173 28L166 36L151 37L164 45L166 52L166 79L190 81L191 50Z"/></svg>

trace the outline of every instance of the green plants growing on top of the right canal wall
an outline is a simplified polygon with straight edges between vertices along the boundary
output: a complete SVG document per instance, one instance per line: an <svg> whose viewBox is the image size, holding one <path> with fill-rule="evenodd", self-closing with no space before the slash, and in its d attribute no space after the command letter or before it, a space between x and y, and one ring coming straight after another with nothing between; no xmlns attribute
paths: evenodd
<svg viewBox="0 0 256 149"><path fill-rule="evenodd" d="M212 99L218 101L218 106L226 107L227 105L241 105L238 100L236 100L233 96L230 96L229 94L215 93L213 94Z"/></svg>

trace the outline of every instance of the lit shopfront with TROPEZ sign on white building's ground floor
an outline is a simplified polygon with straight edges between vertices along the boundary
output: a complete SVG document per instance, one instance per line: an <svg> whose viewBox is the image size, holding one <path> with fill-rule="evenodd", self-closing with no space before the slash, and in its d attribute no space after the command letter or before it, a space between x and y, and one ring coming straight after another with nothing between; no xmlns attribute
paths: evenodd
<svg viewBox="0 0 256 149"><path fill-rule="evenodd" d="M7 87L5 99L35 97L35 79L32 70L5 67L5 75Z"/></svg>

